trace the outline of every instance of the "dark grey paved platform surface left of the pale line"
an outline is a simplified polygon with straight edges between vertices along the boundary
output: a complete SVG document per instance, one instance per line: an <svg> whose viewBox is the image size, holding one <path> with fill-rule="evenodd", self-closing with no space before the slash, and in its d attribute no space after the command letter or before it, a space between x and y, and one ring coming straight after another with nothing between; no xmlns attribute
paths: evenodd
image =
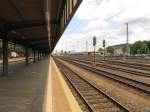
<svg viewBox="0 0 150 112"><path fill-rule="evenodd" d="M49 58L0 77L0 112L41 112Z"/></svg>

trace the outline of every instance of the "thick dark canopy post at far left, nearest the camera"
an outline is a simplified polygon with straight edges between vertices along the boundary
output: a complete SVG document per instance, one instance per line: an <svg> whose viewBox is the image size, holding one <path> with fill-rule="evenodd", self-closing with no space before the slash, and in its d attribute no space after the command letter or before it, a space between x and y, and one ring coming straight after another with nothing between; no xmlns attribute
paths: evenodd
<svg viewBox="0 0 150 112"><path fill-rule="evenodd" d="M8 41L3 39L3 76L8 75Z"/></svg>

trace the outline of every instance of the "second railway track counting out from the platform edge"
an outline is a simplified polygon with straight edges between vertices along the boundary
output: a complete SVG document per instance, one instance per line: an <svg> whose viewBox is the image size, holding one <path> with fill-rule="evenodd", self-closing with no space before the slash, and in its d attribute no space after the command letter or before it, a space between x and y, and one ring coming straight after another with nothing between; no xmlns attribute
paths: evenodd
<svg viewBox="0 0 150 112"><path fill-rule="evenodd" d="M94 66L87 65L87 64L84 64L84 63L75 62L73 60L68 60L68 59L63 59L63 60L67 61L69 63L72 63L74 65L77 65L78 67L86 69L90 72L96 73L96 74L101 75L103 77L106 77L106 78L109 78L109 79L114 80L116 82L119 82L119 83L121 83L123 85L126 85L128 87L132 87L132 88L134 88L134 89L136 89L140 92L143 92L147 95L150 95L150 85L149 84L139 82L139 81L136 81L136 80L133 80L133 79L129 79L127 77L119 76L119 75L116 75L116 74L113 74L113 73L109 73L107 71L101 71L101 70L95 68Z"/></svg>

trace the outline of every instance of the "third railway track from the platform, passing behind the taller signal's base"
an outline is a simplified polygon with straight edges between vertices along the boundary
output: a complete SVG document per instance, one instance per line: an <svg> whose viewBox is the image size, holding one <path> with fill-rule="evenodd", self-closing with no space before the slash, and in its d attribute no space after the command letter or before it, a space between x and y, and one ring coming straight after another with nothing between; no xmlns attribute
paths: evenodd
<svg viewBox="0 0 150 112"><path fill-rule="evenodd" d="M93 62L89 61L89 60L81 60L81 59L72 59L72 60L76 60L79 62L83 62L83 63L87 63L87 64L93 64ZM131 73L134 75L139 75L139 76L144 76L144 77L149 77L150 78L150 72L147 71L141 71L141 70L136 70L136 69L132 69L132 68L123 68L120 66L114 66L114 65L108 65L108 64L102 64L100 62L96 63L97 66L102 67L102 68L107 68L107 69L111 69L111 70L117 70L117 71L121 71L121 72L126 72L126 73Z"/></svg>

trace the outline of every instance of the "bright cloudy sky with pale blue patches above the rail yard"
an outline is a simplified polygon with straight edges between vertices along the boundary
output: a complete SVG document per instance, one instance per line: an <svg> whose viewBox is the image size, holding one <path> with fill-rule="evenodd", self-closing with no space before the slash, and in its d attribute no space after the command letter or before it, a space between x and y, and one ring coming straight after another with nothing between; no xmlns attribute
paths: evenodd
<svg viewBox="0 0 150 112"><path fill-rule="evenodd" d="M96 49L104 39L106 46L126 43L126 23L129 43L150 40L149 4L150 0L83 0L54 52L92 51L93 36Z"/></svg>

